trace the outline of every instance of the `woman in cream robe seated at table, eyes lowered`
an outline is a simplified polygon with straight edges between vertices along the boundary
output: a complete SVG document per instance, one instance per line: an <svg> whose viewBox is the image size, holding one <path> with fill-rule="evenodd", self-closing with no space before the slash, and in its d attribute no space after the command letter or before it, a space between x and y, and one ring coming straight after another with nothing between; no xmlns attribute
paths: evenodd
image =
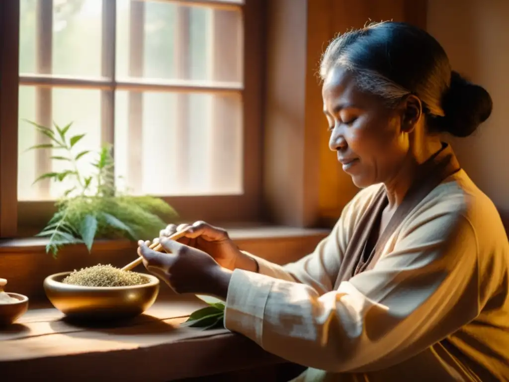
<svg viewBox="0 0 509 382"><path fill-rule="evenodd" d="M145 266L224 299L227 329L308 367L295 380L509 380L507 236L440 140L474 132L490 95L398 22L337 37L320 74L330 149L361 190L314 253L275 265L199 222L161 232L172 254L140 242Z"/></svg>

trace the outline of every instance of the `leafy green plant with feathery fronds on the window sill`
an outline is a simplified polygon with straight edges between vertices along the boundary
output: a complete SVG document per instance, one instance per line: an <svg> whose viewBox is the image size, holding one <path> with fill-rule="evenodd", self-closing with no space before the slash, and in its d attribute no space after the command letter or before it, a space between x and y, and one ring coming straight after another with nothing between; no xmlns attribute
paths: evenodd
<svg viewBox="0 0 509 382"><path fill-rule="evenodd" d="M100 151L79 150L78 143L85 134L73 134L72 123L54 129L27 121L49 139L49 143L28 150L59 150L52 160L63 161L66 168L39 176L55 182L72 180L71 186L56 201L57 211L46 227L36 236L47 237L46 252L54 257L63 245L84 243L89 252L95 239L127 238L152 239L167 223L175 221L176 211L162 199L152 196L133 196L120 192L115 184L114 160L110 147ZM91 161L93 172L83 174L78 164ZM89 162L90 163L90 162ZM69 182L68 182L69 183Z"/></svg>

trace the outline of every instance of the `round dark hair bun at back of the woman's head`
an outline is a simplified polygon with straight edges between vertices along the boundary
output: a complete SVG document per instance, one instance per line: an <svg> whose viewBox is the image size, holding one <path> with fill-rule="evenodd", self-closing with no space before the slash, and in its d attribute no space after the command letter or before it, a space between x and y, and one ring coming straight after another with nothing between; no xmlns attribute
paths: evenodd
<svg viewBox="0 0 509 382"><path fill-rule="evenodd" d="M486 89L453 70L442 108L445 116L438 118L439 130L455 137L468 137L490 117L493 101Z"/></svg>

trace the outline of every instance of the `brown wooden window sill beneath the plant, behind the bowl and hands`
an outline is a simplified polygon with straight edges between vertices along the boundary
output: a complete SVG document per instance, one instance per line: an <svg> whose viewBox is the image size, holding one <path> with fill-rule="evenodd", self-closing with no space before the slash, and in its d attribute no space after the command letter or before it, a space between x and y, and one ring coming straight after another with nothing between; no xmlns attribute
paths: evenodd
<svg viewBox="0 0 509 382"><path fill-rule="evenodd" d="M313 252L330 230L252 226L228 232L241 250L286 264ZM42 284L49 275L99 263L121 267L137 256L137 244L128 240L98 240L91 253L83 244L68 245L56 259L45 244L39 238L0 241L0 277L8 280L7 291L26 295L31 303L46 301ZM135 270L145 272L143 265Z"/></svg>

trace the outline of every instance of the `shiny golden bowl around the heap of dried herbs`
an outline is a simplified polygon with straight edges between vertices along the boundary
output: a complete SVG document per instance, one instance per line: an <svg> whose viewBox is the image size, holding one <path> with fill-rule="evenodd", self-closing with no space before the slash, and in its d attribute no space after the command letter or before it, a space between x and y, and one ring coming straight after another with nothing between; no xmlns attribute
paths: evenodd
<svg viewBox="0 0 509 382"><path fill-rule="evenodd" d="M146 284L122 287L89 287L64 284L71 272L48 276L44 291L53 306L69 318L120 320L142 314L154 304L159 293L159 279L142 274Z"/></svg>

